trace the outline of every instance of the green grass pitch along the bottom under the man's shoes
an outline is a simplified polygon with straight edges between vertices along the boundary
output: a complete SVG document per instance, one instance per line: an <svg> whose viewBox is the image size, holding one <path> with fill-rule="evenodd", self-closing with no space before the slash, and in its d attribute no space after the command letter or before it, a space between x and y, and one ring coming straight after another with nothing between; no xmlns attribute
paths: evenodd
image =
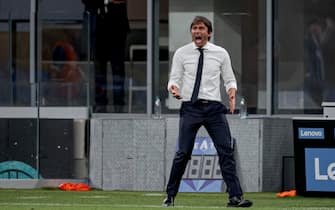
<svg viewBox="0 0 335 210"><path fill-rule="evenodd" d="M335 198L277 198L276 193L245 193L254 202L250 209L335 210ZM89 192L58 189L0 189L0 209L3 210L130 210L163 209L164 192ZM173 209L223 209L226 193L179 193Z"/></svg>

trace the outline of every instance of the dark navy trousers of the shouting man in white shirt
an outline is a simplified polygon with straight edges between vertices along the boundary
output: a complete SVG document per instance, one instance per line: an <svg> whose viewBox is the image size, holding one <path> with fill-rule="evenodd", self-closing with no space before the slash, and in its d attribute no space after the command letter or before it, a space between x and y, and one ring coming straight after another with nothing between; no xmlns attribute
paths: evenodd
<svg viewBox="0 0 335 210"><path fill-rule="evenodd" d="M196 134L204 126L212 138L219 156L223 179L229 197L242 196L236 175L234 142L225 117L226 107L220 102L199 100L195 104L183 102L180 110L178 149L175 154L166 192L175 197L187 162L191 159Z"/></svg>

